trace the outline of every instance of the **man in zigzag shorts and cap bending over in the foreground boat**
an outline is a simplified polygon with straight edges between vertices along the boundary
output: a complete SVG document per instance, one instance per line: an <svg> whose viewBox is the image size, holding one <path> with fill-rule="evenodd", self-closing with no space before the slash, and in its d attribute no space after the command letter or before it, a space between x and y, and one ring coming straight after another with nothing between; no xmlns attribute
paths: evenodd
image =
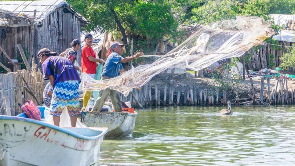
<svg viewBox="0 0 295 166"><path fill-rule="evenodd" d="M60 115L67 107L71 126L75 127L79 110L79 84L81 82L73 63L64 57L56 56L56 52L41 49L37 54L42 64L43 78L50 80L53 87L50 103L50 115L53 115L54 125L59 126Z"/></svg>

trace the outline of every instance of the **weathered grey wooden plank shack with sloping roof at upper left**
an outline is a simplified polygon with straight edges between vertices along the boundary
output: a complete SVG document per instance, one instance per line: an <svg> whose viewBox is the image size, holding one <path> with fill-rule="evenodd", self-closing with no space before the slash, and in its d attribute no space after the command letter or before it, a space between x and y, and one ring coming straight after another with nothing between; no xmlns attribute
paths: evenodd
<svg viewBox="0 0 295 166"><path fill-rule="evenodd" d="M9 17L8 17L9 16ZM21 44L28 62L42 48L61 53L80 40L81 27L88 21L63 0L0 2L0 45L11 59L19 59ZM13 69L0 52L0 62Z"/></svg>

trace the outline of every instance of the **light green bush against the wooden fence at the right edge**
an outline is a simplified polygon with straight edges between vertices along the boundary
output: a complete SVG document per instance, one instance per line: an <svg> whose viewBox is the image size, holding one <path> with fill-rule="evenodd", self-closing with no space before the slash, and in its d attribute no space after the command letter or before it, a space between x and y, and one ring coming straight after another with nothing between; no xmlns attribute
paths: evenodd
<svg viewBox="0 0 295 166"><path fill-rule="evenodd" d="M295 47L291 47L280 58L281 67L284 70L288 70L289 67L295 68Z"/></svg>

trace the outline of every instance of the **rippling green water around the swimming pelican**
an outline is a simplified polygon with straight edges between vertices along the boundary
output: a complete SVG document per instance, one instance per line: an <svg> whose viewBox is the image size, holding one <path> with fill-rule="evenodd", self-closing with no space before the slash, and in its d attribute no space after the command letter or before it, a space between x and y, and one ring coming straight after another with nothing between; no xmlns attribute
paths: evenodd
<svg viewBox="0 0 295 166"><path fill-rule="evenodd" d="M295 106L138 110L132 138L104 140L100 165L295 165Z"/></svg>

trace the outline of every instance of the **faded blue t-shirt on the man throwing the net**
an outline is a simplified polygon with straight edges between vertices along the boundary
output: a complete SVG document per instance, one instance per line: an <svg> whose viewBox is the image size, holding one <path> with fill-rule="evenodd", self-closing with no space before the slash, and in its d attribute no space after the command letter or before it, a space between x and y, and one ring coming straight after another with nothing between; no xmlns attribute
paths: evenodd
<svg viewBox="0 0 295 166"><path fill-rule="evenodd" d="M107 57L107 61L104 64L104 71L101 75L107 76L108 78L114 78L120 75L120 70L123 69L122 63L120 62L122 59L123 57L117 52L112 52Z"/></svg>

